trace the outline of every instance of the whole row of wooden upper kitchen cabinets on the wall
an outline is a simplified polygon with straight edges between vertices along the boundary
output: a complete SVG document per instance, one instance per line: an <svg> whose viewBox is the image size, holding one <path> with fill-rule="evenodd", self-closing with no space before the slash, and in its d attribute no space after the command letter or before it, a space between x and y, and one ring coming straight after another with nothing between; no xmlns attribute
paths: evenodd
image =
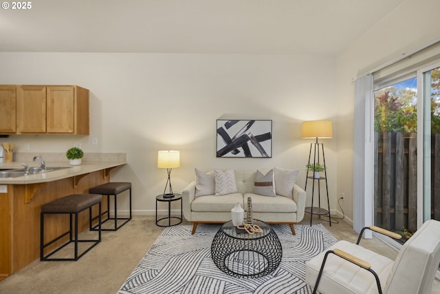
<svg viewBox="0 0 440 294"><path fill-rule="evenodd" d="M83 87L4 85L0 105L0 134L89 134L89 90Z"/></svg>

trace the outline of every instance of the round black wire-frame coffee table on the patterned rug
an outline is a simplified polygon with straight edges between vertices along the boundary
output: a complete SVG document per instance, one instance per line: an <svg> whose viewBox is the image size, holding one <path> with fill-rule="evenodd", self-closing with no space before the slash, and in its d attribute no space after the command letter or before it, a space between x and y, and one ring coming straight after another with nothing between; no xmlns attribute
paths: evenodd
<svg viewBox="0 0 440 294"><path fill-rule="evenodd" d="M254 220L263 233L237 232L232 222L226 222L212 240L214 264L233 277L263 277L280 264L283 249L278 235L269 224Z"/></svg>

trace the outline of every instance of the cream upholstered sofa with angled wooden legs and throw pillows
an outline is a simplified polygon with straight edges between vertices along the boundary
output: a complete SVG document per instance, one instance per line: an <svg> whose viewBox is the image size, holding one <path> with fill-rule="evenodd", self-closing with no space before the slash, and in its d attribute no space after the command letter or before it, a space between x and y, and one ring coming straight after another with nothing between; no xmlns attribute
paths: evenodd
<svg viewBox="0 0 440 294"><path fill-rule="evenodd" d="M213 171L206 173L207 178L200 180L196 169L196 180L182 191L183 213L186 220L193 223L192 234L199 223L222 223L231 220L231 209L237 202L245 209L246 218L248 197L251 197L254 219L270 224L289 224L292 234L295 235L294 224L303 220L306 201L305 191L295 184L298 170L275 167L272 171L275 192L272 197L254 193L257 171L242 170L234 171L236 192L216 196L210 191L212 185L216 185L217 179L214 178ZM206 186L210 187L206 189ZM204 195L197 196L201 190L205 190Z"/></svg>

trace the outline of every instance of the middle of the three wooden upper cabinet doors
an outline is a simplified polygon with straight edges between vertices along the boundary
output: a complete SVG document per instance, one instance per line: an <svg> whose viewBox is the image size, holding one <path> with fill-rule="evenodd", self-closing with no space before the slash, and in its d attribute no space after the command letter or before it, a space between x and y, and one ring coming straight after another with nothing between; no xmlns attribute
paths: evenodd
<svg viewBox="0 0 440 294"><path fill-rule="evenodd" d="M46 86L17 87L17 134L46 132Z"/></svg>

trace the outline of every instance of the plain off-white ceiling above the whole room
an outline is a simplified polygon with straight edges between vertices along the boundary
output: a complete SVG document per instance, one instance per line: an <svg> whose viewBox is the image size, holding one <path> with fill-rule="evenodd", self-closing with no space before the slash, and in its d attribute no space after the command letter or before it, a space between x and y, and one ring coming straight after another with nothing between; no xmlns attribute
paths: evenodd
<svg viewBox="0 0 440 294"><path fill-rule="evenodd" d="M0 10L0 52L336 55L404 1L35 0Z"/></svg>

